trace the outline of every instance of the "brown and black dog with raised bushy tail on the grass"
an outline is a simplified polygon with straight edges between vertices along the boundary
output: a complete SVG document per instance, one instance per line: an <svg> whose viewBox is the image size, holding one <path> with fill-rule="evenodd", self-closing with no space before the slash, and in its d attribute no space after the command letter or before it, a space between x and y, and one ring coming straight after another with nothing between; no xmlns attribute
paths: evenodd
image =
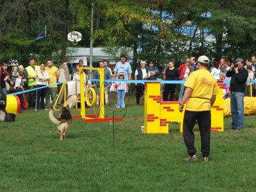
<svg viewBox="0 0 256 192"><path fill-rule="evenodd" d="M58 124L58 130L60 132L60 141L64 140L67 135L68 129L72 123L72 116L68 105L60 109L60 118L56 118L56 116L54 115L54 109L50 108L49 118L52 123Z"/></svg>

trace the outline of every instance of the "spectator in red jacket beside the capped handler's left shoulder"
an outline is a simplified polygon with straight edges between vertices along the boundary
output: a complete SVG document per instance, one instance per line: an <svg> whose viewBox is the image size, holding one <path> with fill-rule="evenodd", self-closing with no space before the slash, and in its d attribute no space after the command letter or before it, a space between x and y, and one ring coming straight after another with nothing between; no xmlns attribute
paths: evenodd
<svg viewBox="0 0 256 192"><path fill-rule="evenodd" d="M190 59L186 59L186 63L182 63L180 67L178 68L180 72L179 79L182 81L186 81L188 76L191 74L191 65L190 65ZM182 99L184 93L184 84L180 84L180 93L179 93L179 100Z"/></svg>

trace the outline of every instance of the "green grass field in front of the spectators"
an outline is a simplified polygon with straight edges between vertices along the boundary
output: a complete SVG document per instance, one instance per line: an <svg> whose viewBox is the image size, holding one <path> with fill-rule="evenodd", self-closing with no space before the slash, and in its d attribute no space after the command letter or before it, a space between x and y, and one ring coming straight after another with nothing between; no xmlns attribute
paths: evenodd
<svg viewBox="0 0 256 192"><path fill-rule="evenodd" d="M242 131L225 118L225 132L211 134L209 163L191 164L177 124L169 134L141 134L143 107L115 113L125 115L115 122L115 152L109 122L75 119L61 142L47 113L28 110L0 123L0 191L256 191L255 116L245 117Z"/></svg>

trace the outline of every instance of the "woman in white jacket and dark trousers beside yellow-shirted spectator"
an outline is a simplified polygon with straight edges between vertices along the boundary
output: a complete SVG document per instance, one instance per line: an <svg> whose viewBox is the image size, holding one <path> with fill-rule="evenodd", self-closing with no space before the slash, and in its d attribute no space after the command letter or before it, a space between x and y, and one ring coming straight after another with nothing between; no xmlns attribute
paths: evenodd
<svg viewBox="0 0 256 192"><path fill-rule="evenodd" d="M47 92L47 88L42 88L43 86L47 86L48 84L48 79L49 79L49 74L48 72L44 69L45 64L41 63L40 65L40 70L36 71L36 88L40 88L36 90L36 108L35 111L38 109L45 109L45 94ZM45 109L47 110L47 109Z"/></svg>

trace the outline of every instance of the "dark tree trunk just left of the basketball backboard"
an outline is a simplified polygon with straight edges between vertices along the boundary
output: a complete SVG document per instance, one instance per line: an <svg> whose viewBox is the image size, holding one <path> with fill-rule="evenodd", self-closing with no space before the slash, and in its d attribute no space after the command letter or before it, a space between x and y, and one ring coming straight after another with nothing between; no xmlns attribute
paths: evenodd
<svg viewBox="0 0 256 192"><path fill-rule="evenodd" d="M67 51L67 38L68 38L68 6L69 0L65 1L65 10L64 10L64 24L63 24L63 35L62 35L62 42L61 42L61 58L60 62L63 63L63 60L66 56Z"/></svg>

